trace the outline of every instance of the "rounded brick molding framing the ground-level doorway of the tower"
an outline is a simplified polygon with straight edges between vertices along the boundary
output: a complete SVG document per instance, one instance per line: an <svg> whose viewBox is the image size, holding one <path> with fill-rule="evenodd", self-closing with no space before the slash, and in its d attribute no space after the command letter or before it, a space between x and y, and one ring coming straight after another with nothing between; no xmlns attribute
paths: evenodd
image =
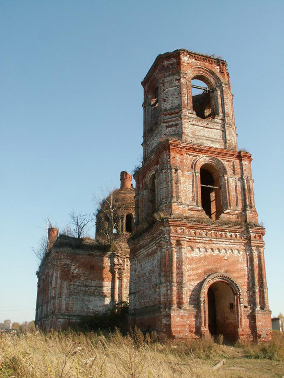
<svg viewBox="0 0 284 378"><path fill-rule="evenodd" d="M203 281L200 288L200 325L201 325L201 335L210 335L208 327L208 299L207 291L208 288L214 282L225 282L228 284L234 294L235 298L235 322L237 325L237 337L240 338L243 335L243 295L239 283L231 277L229 274L225 273L213 273L210 274Z"/></svg>

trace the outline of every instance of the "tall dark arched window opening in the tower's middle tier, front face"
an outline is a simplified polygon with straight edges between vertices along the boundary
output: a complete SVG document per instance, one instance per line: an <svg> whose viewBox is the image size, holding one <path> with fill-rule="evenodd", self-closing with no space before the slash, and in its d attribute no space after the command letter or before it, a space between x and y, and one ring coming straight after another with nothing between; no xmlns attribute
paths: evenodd
<svg viewBox="0 0 284 378"><path fill-rule="evenodd" d="M201 167L201 206L212 220L218 219L223 211L219 181L219 173L214 166L204 164Z"/></svg>

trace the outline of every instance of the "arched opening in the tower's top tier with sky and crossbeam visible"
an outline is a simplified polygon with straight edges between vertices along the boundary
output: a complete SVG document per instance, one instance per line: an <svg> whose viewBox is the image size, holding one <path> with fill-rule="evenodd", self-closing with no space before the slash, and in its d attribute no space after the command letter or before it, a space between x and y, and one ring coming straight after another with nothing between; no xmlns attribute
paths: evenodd
<svg viewBox="0 0 284 378"><path fill-rule="evenodd" d="M196 115L202 119L214 117L214 92L202 81L191 81L192 108Z"/></svg>

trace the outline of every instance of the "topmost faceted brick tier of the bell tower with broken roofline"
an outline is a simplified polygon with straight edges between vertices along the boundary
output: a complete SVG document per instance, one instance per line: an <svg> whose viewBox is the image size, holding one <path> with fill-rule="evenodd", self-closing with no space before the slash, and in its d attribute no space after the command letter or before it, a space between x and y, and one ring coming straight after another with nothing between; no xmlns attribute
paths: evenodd
<svg viewBox="0 0 284 378"><path fill-rule="evenodd" d="M185 49L166 52L156 57L141 84L143 162L166 139L237 151L225 60Z"/></svg>

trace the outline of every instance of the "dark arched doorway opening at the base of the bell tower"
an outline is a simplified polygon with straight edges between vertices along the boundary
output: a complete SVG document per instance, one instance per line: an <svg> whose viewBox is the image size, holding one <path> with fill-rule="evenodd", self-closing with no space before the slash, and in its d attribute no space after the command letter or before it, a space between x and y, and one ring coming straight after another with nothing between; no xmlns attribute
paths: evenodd
<svg viewBox="0 0 284 378"><path fill-rule="evenodd" d="M223 335L224 342L237 340L238 323L235 295L224 281L216 281L207 290L208 329L212 336Z"/></svg>

